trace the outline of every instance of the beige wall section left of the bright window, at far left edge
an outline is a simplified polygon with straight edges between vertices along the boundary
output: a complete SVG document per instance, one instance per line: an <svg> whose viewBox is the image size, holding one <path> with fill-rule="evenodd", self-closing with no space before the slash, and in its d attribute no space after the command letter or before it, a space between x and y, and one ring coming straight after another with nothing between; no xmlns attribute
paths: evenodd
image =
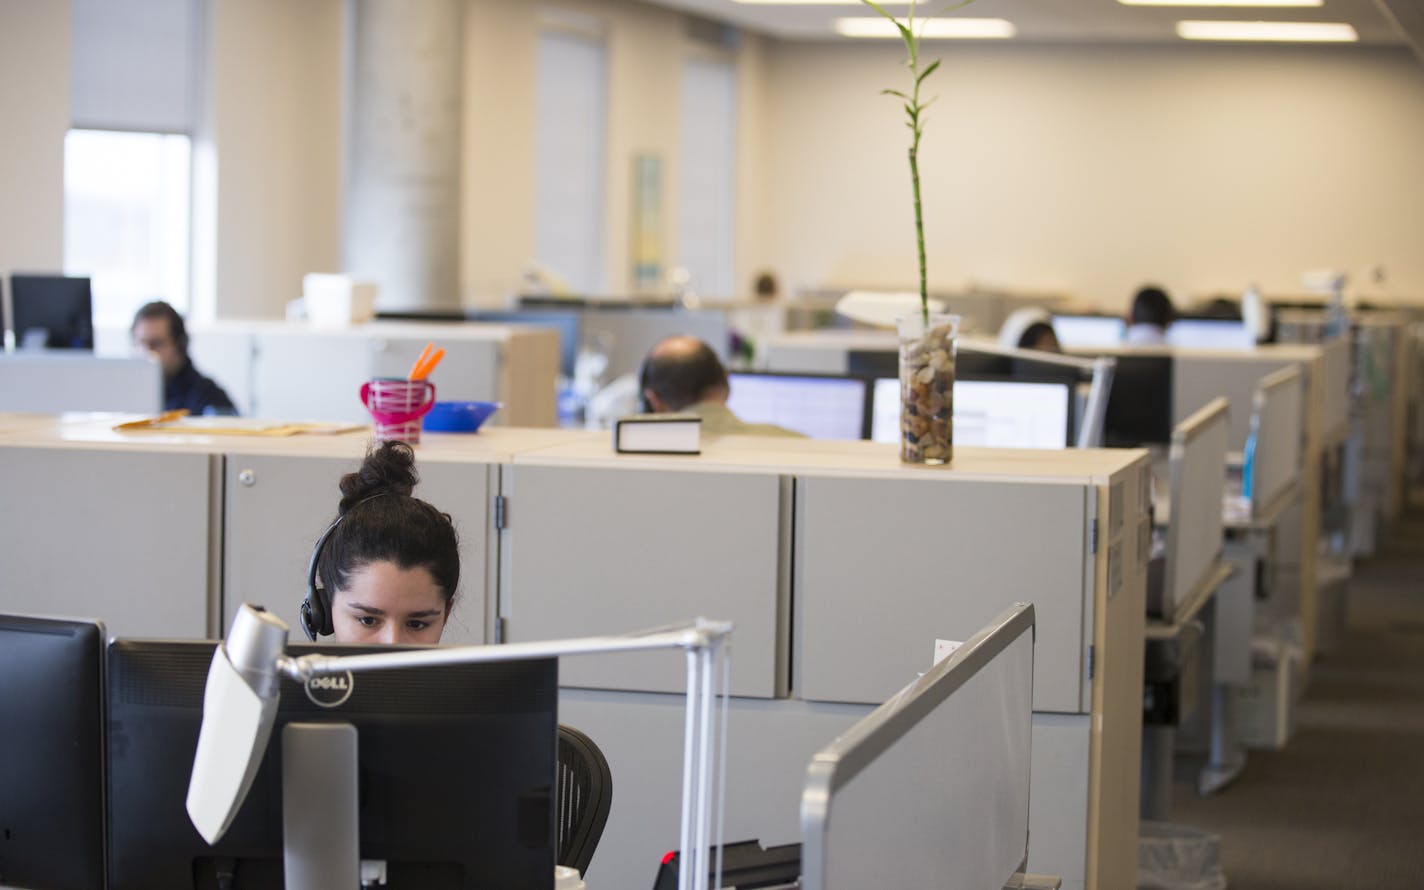
<svg viewBox="0 0 1424 890"><path fill-rule="evenodd" d="M67 1L0 0L0 276L57 271L70 125Z"/></svg>

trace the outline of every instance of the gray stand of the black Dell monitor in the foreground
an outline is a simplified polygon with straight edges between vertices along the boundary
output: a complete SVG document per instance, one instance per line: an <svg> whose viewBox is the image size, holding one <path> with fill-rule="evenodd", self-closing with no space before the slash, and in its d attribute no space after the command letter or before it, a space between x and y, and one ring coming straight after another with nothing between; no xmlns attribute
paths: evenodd
<svg viewBox="0 0 1424 890"><path fill-rule="evenodd" d="M356 728L282 729L282 867L286 890L360 887Z"/></svg>

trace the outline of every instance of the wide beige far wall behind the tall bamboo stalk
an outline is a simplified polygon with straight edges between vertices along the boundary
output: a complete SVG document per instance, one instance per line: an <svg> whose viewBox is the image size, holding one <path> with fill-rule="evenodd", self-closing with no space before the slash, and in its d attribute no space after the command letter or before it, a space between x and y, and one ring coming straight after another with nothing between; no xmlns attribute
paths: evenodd
<svg viewBox="0 0 1424 890"><path fill-rule="evenodd" d="M931 286L1111 306L1300 290L1347 269L1424 300L1424 67L1407 51L936 47L921 148ZM793 286L910 285L890 46L768 54L768 255Z"/></svg>

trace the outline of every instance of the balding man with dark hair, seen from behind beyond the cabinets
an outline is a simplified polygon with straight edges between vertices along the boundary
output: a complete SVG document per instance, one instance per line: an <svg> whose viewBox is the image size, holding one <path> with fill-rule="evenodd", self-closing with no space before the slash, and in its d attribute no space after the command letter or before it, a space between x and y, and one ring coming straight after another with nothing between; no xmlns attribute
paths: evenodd
<svg viewBox="0 0 1424 890"><path fill-rule="evenodd" d="M770 423L743 423L726 406L732 386L726 369L702 340L675 335L659 340L642 360L638 392L644 410L655 414L685 413L702 419L708 436L796 436Z"/></svg>

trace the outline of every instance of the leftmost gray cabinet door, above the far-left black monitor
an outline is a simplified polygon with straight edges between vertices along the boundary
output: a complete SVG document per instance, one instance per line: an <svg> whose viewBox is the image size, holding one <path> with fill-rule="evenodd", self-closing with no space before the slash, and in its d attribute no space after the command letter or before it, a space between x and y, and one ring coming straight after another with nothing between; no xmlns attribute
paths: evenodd
<svg viewBox="0 0 1424 890"><path fill-rule="evenodd" d="M0 460L0 611L97 618L115 637L208 637L218 459L10 447Z"/></svg>

